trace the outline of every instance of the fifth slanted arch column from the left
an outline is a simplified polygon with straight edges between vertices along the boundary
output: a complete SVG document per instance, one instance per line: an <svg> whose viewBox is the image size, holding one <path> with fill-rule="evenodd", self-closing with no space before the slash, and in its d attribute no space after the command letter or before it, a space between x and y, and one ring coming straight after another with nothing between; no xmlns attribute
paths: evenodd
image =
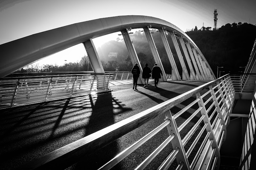
<svg viewBox="0 0 256 170"><path fill-rule="evenodd" d="M184 74L184 75L185 75L185 78L186 78L186 79L184 79L184 76L182 76L182 80L189 80L190 77L189 77L189 75L188 75L188 70L187 70L187 68L186 68L186 65L185 65L185 63L184 63L183 57L182 57L182 55L181 55L180 48L179 48L179 46L178 46L178 42L177 42L177 40L176 40L175 35L174 35L173 32L171 32L170 35L171 35L173 45L174 45L174 47L175 47L175 50L176 50L177 55L178 55L179 60L180 60L180 64L181 64L181 67L182 67L182 72L184 72L184 73L182 73L182 75Z"/></svg>

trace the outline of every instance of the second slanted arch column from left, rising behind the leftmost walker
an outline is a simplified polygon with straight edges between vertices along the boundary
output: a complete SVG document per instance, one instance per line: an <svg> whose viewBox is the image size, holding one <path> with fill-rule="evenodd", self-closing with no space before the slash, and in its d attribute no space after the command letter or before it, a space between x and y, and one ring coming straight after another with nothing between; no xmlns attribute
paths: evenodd
<svg viewBox="0 0 256 170"><path fill-rule="evenodd" d="M140 65L138 55L135 51L135 48L134 48L133 43L130 39L130 36L129 36L127 30L121 31L121 33L123 35L124 42L125 42L125 45L126 45L126 48L127 48L128 52L129 52L130 58L132 60L132 65L134 66L135 63L138 63L138 66L140 67L140 77L138 79L138 84L143 84L144 81L143 81L143 78L142 78L142 67ZM132 70L132 68L131 68L131 70Z"/></svg>

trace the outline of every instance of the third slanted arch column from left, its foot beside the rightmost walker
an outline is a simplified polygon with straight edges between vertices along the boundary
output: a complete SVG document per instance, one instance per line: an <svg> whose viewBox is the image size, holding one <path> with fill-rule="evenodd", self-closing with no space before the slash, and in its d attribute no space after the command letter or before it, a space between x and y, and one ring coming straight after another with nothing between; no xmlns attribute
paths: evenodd
<svg viewBox="0 0 256 170"><path fill-rule="evenodd" d="M157 65L161 68L162 72L163 72L163 78L161 78L160 80L162 81L167 81L167 78L166 78L166 75L165 75L165 71L164 71L164 67L162 65L162 62L160 60L160 57L158 55L158 52L157 52L157 49L156 49L156 45L155 45L155 42L150 34L150 31L148 29L148 27L145 27L143 28L144 32L145 32L145 35L148 39L148 44L149 44L149 47L151 49L151 52L153 54L153 57L155 59L155 62L157 63Z"/></svg>

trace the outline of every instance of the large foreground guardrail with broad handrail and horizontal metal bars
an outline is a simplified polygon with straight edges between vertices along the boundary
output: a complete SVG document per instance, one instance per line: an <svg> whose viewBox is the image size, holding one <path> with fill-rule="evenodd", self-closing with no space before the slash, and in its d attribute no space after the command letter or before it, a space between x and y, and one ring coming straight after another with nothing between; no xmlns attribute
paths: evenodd
<svg viewBox="0 0 256 170"><path fill-rule="evenodd" d="M209 88L204 94L200 94L204 89ZM196 95L196 99L181 109L177 114L172 115L170 109L181 102ZM50 168L54 165L58 165L58 168L66 168L70 163L75 161L84 155L89 155L95 152L99 148L106 146L107 144L115 141L119 137L131 132L138 128L142 124L154 119L156 116L163 114L165 120L156 129L142 137L136 143L125 149L123 152L116 155L108 163L102 166L100 169L110 169L118 162L128 156L131 152L136 150L140 145L148 141L161 129L167 127L169 137L160 144L154 152L152 152L141 164L136 168L145 168L157 154L168 144L172 144L173 151L161 164L159 169L165 169L172 159L176 158L178 167L177 169L194 169L199 167L201 169L205 166L205 169L219 169L220 166L220 147L223 141L225 141L226 127L228 126L230 116L232 112L232 106L235 99L235 89L229 75L225 75L221 78L208 82L204 85L196 87L193 90L185 92L175 98L167 100L161 104L158 104L152 108L149 108L137 115L131 116L123 121L117 122L107 128L97 131L91 135L88 135L82 139L79 139L71 144L63 146L53 152L50 152L40 158L34 159L23 167L27 169L37 168ZM191 107L197 103L198 109L186 119L179 127L176 124L175 119L179 118L184 112L190 110ZM195 115L201 113L200 118L192 129L186 129L186 125L190 122ZM196 139L190 145L187 152L184 150L184 145L196 132L199 125L203 123L203 128L196 134ZM186 130L186 135L183 139L180 137L180 132ZM191 164L188 163L188 157L193 151L195 145L200 142L200 137L203 136L204 140L201 141L201 146L194 157ZM207 158L207 155L210 157ZM198 161L200 159L200 161ZM56 166L54 166L56 167ZM22 167L21 167L22 168Z"/></svg>

